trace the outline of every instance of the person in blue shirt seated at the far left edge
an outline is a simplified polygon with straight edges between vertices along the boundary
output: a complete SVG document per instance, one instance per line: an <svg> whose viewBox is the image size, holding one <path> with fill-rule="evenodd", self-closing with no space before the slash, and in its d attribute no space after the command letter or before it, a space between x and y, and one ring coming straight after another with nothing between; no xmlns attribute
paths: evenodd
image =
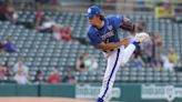
<svg viewBox="0 0 182 102"><path fill-rule="evenodd" d="M16 53L17 52L17 45L12 42L12 39L7 39L7 41L2 44L3 50L9 53Z"/></svg>

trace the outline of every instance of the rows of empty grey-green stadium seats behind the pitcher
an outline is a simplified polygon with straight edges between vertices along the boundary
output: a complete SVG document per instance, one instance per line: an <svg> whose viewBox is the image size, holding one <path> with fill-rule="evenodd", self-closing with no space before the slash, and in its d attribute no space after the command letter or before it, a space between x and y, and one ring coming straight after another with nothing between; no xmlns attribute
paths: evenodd
<svg viewBox="0 0 182 102"><path fill-rule="evenodd" d="M34 11L19 11L20 21L33 22ZM57 23L70 26L72 37L87 39L87 18L80 13L68 12L46 12ZM174 48L176 53L182 57L182 23L172 22L168 19L156 19L153 16L128 14L130 19L136 21L142 19L148 24L149 32L159 31L163 38L164 47L169 50ZM67 69L74 69L75 60L79 53L94 55L99 59L99 69L97 72L73 72L78 82L101 82L104 74L105 60L99 50L91 45L81 44L79 41L55 41L51 33L40 33L34 29L28 29L23 26L14 26L9 21L0 22L0 41L7 38L13 38L19 51L18 53L0 53L0 61L10 60L17 62L18 58L24 59L30 68L30 80L33 80L37 70L44 72L46 78L51 70L57 68L60 75L65 74ZM12 80L11 76L4 76L3 80ZM181 72L155 71L153 68L129 68L120 69L117 75L117 82L139 82L139 83L181 83Z"/></svg>

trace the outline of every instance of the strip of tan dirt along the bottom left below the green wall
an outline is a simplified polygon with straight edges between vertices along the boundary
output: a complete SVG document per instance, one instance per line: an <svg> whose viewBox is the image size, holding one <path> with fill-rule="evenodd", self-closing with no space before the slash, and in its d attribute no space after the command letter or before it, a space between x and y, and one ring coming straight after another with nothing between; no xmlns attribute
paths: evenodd
<svg viewBox="0 0 182 102"><path fill-rule="evenodd" d="M93 102L68 98L0 98L0 102Z"/></svg>

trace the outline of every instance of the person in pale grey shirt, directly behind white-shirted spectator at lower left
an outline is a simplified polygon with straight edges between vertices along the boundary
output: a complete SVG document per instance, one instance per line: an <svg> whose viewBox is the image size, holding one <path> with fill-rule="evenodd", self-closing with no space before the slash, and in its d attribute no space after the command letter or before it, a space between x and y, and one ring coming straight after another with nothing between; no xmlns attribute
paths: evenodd
<svg viewBox="0 0 182 102"><path fill-rule="evenodd" d="M23 63L22 58L19 58L18 62L13 65L13 72L17 73L19 71L22 71L28 76L29 68Z"/></svg>

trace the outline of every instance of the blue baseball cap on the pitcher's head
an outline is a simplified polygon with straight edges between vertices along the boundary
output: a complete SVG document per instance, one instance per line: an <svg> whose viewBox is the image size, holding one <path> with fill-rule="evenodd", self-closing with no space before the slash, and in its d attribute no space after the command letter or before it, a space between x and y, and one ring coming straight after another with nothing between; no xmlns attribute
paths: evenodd
<svg viewBox="0 0 182 102"><path fill-rule="evenodd" d="M99 7L97 6L91 6L89 9L88 9L88 13L87 13L87 17L89 18L93 18L94 16L97 14L101 14L102 11Z"/></svg>

